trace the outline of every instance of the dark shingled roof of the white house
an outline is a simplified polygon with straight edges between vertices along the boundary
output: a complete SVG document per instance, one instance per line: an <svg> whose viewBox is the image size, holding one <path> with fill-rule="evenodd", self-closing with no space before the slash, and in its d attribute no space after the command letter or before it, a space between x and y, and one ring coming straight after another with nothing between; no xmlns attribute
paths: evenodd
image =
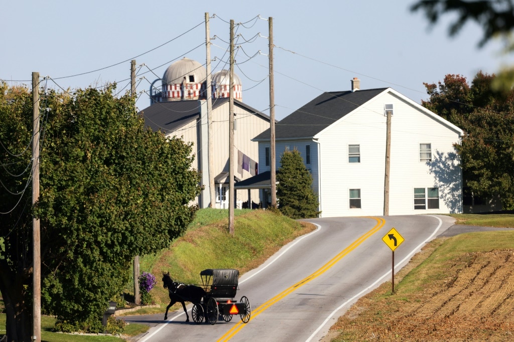
<svg viewBox="0 0 514 342"><path fill-rule="evenodd" d="M311 138L389 88L324 92L275 124L275 139ZM267 129L253 141L270 139Z"/></svg>

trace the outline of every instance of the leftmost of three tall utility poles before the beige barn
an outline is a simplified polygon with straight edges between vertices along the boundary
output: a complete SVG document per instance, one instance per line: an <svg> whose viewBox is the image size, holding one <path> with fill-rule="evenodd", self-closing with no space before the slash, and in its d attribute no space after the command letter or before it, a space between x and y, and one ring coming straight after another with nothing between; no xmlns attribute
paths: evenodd
<svg viewBox="0 0 514 342"><path fill-rule="evenodd" d="M212 81L211 81L211 38L209 32L209 13L205 13L205 47L207 51L207 148L209 159L209 207L214 207L216 203L214 193L214 145L212 139L214 137L214 127L212 126Z"/></svg>

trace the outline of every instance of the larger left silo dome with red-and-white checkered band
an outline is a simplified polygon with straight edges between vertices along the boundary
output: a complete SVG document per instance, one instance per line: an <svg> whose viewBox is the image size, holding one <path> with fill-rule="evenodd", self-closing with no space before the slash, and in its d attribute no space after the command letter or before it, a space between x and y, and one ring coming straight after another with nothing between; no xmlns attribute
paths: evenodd
<svg viewBox="0 0 514 342"><path fill-rule="evenodd" d="M162 100L205 98L207 71L198 62L184 57L172 63L162 76Z"/></svg>

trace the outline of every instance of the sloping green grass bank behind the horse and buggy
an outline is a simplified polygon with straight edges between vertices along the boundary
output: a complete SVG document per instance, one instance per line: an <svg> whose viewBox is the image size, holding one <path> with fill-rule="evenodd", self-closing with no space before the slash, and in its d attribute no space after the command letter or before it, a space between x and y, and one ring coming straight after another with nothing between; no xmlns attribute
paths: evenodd
<svg viewBox="0 0 514 342"><path fill-rule="evenodd" d="M201 284L199 273L205 269L233 268L244 273L306 232L299 222L280 214L244 210L237 211L235 233L231 236L226 212L208 210L205 216L201 213L199 220L210 223L188 230L153 264L151 272L158 278L158 285L152 293L158 304L169 302L168 292L162 288L162 272L170 272L173 279L189 284Z"/></svg>

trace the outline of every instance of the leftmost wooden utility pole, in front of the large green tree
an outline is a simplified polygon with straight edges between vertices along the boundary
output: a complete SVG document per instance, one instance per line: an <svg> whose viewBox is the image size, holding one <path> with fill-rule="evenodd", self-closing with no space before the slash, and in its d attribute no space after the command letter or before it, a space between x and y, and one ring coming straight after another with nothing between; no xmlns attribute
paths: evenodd
<svg viewBox="0 0 514 342"><path fill-rule="evenodd" d="M32 207L39 200L39 72L32 72ZM32 216L32 340L41 342L41 231Z"/></svg>

